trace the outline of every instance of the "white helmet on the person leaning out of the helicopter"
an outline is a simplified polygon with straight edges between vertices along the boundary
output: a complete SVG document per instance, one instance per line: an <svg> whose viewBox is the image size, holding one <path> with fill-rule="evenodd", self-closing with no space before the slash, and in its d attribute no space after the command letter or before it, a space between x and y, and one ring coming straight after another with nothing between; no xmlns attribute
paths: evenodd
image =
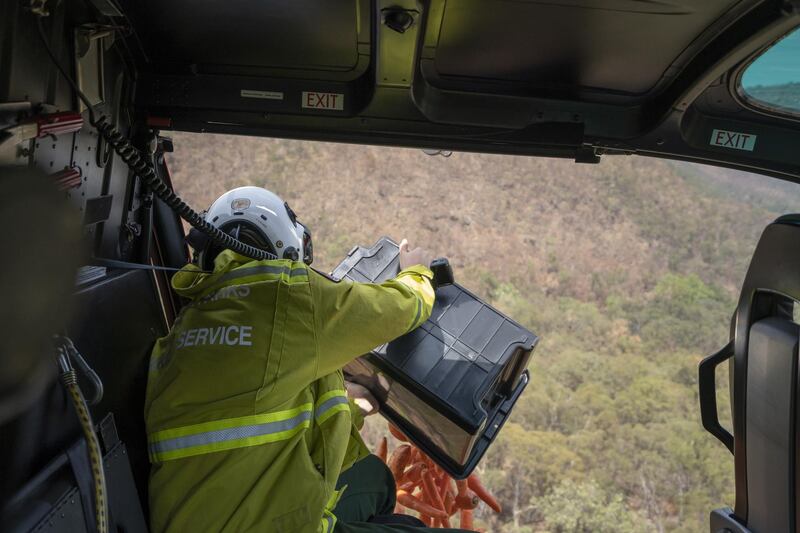
<svg viewBox="0 0 800 533"><path fill-rule="evenodd" d="M205 212L206 221L234 238L265 250L280 259L314 259L311 233L297 220L289 204L261 187L232 189L214 201ZM213 267L222 250L193 230L189 243L198 252L202 268Z"/></svg>

